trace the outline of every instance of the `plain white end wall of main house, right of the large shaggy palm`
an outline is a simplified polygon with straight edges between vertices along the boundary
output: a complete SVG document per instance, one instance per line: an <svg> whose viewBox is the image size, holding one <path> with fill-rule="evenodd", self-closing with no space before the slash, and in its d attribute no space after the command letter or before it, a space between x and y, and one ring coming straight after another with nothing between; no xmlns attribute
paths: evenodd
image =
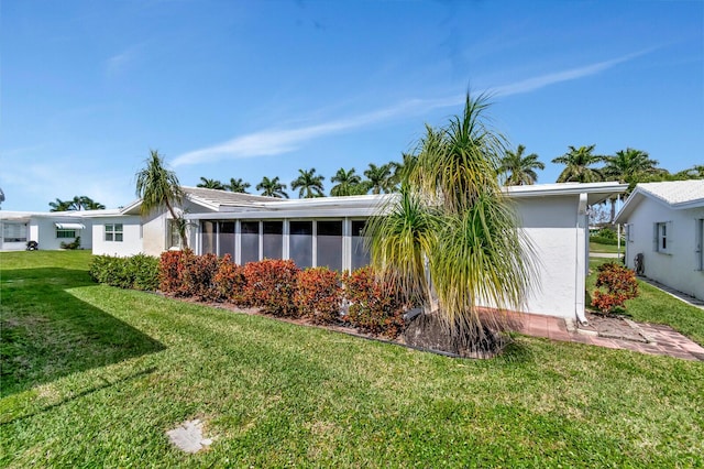
<svg viewBox="0 0 704 469"><path fill-rule="evenodd" d="M578 257L585 257L578 244L578 196L517 200L521 227L532 241L539 271L526 313L575 317L575 301L584 295L576 291L578 275L584 275Z"/></svg>

